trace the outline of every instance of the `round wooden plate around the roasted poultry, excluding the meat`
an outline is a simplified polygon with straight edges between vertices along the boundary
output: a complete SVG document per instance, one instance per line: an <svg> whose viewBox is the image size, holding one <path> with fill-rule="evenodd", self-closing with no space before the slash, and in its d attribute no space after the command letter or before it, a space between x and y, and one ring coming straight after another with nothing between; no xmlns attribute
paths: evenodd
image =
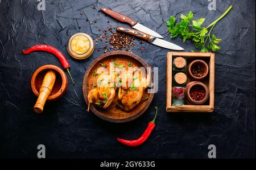
<svg viewBox="0 0 256 170"><path fill-rule="evenodd" d="M114 60L117 58L118 64L123 64L127 66L129 64L129 61L131 61L131 63L133 63L133 67L148 67L147 63L144 60L142 60L141 57L135 55L134 53L126 51L113 51L104 53L96 60L94 60L92 64L90 64L84 76L82 92L84 93L84 99L87 105L88 92L89 90L92 90L94 88L93 84L96 84L97 80L96 76L93 75L94 71L97 71L97 69L101 67L100 63L109 65L110 62L114 62ZM151 78L153 81L153 76ZM150 103L152 102L154 93L147 93L147 89L145 89L143 93L143 98L145 97L148 97L148 99L145 101L142 99L142 101L133 110L129 112L123 111L116 106L118 101L117 94L115 95L112 104L107 109L101 109L100 107L97 107L96 105L92 104L90 105L90 110L101 119L104 119L105 121L114 123L129 122L138 118L147 110L148 106L150 106Z"/></svg>

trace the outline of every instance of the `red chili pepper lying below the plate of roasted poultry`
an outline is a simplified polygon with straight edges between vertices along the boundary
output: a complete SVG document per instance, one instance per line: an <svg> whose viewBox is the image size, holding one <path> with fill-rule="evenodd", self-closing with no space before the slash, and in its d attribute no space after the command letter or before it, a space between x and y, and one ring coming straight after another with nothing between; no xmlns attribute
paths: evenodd
<svg viewBox="0 0 256 170"><path fill-rule="evenodd" d="M137 146L141 145L142 143L144 143L155 128L155 118L156 118L156 115L158 114L158 107L155 107L155 109L156 109L155 117L151 122L148 122L148 126L147 126L146 130L144 131L144 133L141 135L141 137L139 137L138 139L134 139L134 140L125 140L125 139L117 138L118 142L121 142L122 144L129 146L129 147L137 147Z"/></svg>

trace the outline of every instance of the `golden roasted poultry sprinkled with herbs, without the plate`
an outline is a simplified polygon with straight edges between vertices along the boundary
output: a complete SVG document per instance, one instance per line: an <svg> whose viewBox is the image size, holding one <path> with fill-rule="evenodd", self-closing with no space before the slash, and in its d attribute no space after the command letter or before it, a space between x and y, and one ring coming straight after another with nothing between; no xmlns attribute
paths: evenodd
<svg viewBox="0 0 256 170"><path fill-rule="evenodd" d="M88 93L88 109L90 103L106 109L112 103L118 88L117 106L125 111L132 110L141 102L144 89L150 83L151 68L146 75L143 69L128 67L101 73L97 78L97 85Z"/></svg>

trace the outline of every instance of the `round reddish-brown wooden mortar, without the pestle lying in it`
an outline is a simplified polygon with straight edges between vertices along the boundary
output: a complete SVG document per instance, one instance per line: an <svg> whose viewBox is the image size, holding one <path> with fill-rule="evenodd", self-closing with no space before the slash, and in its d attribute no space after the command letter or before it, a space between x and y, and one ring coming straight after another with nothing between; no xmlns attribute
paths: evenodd
<svg viewBox="0 0 256 170"><path fill-rule="evenodd" d="M39 96L39 90L43 83L44 76L49 70L55 71L56 80L47 101L56 101L63 96L68 88L68 78L65 72L56 65L43 65L36 69L31 78L31 89L35 96Z"/></svg>

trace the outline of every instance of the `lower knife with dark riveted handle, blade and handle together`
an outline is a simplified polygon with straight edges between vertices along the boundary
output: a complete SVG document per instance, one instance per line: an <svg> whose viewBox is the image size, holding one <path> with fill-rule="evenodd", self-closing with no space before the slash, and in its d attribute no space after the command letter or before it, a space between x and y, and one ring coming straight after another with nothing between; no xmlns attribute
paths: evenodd
<svg viewBox="0 0 256 170"><path fill-rule="evenodd" d="M174 49L174 50L184 50L179 45L167 42L167 41L159 39L159 38L156 38L155 36L151 36L151 35L146 34L144 32L135 30L133 28L117 27L116 30L118 32L123 32L123 33L126 33L126 34L136 36L138 38L141 38L143 40L146 40L146 41L148 41L148 42L150 42L154 45L158 45L158 46L163 47L163 48Z"/></svg>

